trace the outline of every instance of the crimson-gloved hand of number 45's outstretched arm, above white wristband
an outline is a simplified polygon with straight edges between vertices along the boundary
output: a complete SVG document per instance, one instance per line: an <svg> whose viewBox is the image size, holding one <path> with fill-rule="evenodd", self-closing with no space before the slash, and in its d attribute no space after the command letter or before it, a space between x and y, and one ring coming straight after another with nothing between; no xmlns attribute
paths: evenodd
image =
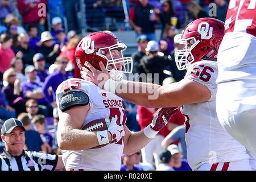
<svg viewBox="0 0 256 182"><path fill-rule="evenodd" d="M167 107L167 108L161 108L158 110L158 113L155 114L152 122L151 122L151 129L155 131L159 131L164 126L167 125L167 123L170 121L172 115L177 113L178 109L177 107Z"/></svg>

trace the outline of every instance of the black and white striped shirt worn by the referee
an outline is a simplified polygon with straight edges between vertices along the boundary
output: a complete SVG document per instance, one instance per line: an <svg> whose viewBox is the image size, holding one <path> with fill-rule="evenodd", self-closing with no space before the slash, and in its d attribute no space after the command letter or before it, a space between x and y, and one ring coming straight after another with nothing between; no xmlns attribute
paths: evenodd
<svg viewBox="0 0 256 182"><path fill-rule="evenodd" d="M57 155L23 150L22 155L13 156L4 149L0 155L0 171L53 171L57 161Z"/></svg>

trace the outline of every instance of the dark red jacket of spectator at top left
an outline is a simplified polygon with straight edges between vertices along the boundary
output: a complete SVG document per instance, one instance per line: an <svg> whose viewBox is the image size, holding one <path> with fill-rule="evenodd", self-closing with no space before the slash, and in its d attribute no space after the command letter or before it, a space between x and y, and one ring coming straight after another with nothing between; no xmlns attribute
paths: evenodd
<svg viewBox="0 0 256 182"><path fill-rule="evenodd" d="M31 9L32 2L35 2L36 6ZM47 19L47 0L18 0L16 6L22 15L23 24L35 23L41 18Z"/></svg>

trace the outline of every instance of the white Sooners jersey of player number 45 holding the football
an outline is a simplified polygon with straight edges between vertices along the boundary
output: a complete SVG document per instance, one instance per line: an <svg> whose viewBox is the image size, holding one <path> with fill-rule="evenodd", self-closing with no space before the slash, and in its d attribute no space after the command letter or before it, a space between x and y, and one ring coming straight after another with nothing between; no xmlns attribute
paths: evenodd
<svg viewBox="0 0 256 182"><path fill-rule="evenodd" d="M62 82L56 90L59 114L60 98L67 90L82 90L89 96L90 110L86 114L85 126L90 121L101 118L117 117L125 125L126 115L122 106L122 99L113 93L100 89L90 81L79 78L70 78ZM81 128L82 128L81 127ZM63 151L65 168L84 170L110 170L119 171L121 168L121 155L123 152L123 139L117 143L107 144L101 148L90 148L81 151Z"/></svg>

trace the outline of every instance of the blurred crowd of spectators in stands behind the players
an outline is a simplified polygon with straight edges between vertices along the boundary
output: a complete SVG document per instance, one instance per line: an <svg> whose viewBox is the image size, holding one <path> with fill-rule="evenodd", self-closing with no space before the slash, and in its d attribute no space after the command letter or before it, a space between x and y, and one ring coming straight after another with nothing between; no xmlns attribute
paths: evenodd
<svg viewBox="0 0 256 182"><path fill-rule="evenodd" d="M177 70L174 60L174 51L181 48L178 30L194 19L209 17L211 2L217 5L217 16L213 18L225 20L228 8L225 0L126 0L125 7L122 2L85 0L88 31L135 31L138 50L131 55L133 73L151 73L153 76L141 81L159 85L180 81L185 75L185 71ZM47 8L42 9L40 3ZM55 91L64 80L81 78L74 56L82 39L77 19L79 9L76 0L0 1L0 126L12 117L22 121L27 150L61 154L56 141L59 117ZM125 23L129 26L125 27ZM155 30L159 28L161 37L156 40ZM154 73L159 77L155 78ZM142 130L158 110L125 100L123 107L131 131ZM179 128L184 119L177 113L141 151L123 155L121 169L190 170L184 140L173 137L184 133ZM178 134L168 135L171 131ZM3 146L0 139L0 153Z"/></svg>

